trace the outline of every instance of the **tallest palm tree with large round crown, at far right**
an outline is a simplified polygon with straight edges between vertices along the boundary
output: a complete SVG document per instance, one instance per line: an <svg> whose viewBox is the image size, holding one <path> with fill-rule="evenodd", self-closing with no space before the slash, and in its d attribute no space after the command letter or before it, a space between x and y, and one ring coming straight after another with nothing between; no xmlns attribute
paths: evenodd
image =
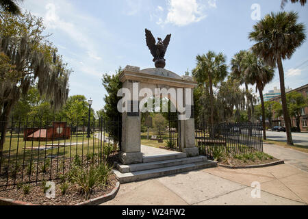
<svg viewBox="0 0 308 219"><path fill-rule="evenodd" d="M253 27L249 34L251 40L257 43L253 45L253 51L264 59L269 66L278 65L281 101L283 105L283 118L287 132L287 144L293 145L289 114L287 112L287 100L285 97L285 76L282 60L290 59L296 48L300 47L306 39L305 25L297 23L296 12L278 12L265 16Z"/></svg>

